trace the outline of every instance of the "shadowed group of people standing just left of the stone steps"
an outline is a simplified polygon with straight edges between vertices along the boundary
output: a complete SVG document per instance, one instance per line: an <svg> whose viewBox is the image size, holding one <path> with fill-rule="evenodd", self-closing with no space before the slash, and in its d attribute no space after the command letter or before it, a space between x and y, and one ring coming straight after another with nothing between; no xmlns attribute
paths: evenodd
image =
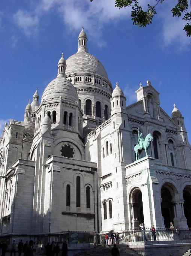
<svg viewBox="0 0 191 256"><path fill-rule="evenodd" d="M47 242L44 248L46 250L47 256L54 256L54 254L58 256L58 254L60 253L59 243L55 245L54 241L52 241L51 244ZM67 255L68 255L68 245L66 244L66 241L65 241L62 244L62 256L67 256Z"/></svg>

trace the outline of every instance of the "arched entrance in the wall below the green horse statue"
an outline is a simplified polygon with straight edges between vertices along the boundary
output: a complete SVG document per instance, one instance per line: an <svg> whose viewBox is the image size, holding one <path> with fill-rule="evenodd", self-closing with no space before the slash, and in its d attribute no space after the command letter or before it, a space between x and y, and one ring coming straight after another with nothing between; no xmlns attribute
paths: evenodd
<svg viewBox="0 0 191 256"><path fill-rule="evenodd" d="M131 193L131 207L133 227L138 227L144 222L142 192L138 187Z"/></svg>

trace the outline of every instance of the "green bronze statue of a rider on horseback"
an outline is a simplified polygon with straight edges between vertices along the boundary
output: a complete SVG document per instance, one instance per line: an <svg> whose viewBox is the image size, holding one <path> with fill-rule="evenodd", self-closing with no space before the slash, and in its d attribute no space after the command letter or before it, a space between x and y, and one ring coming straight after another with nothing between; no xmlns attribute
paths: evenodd
<svg viewBox="0 0 191 256"><path fill-rule="evenodd" d="M146 156L149 156L150 141L152 141L152 139L153 137L150 133L147 134L145 139L143 139L143 134L142 133L139 134L139 129L138 129L138 142L137 142L137 145L134 146L136 161L140 159L139 156L143 150L145 150Z"/></svg>

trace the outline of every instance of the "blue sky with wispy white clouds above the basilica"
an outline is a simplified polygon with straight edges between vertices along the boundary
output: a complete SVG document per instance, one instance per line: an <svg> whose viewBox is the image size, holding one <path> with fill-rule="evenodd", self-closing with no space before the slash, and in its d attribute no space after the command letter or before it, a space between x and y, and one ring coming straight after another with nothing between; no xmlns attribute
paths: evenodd
<svg viewBox="0 0 191 256"><path fill-rule="evenodd" d="M141 0L143 7L155 0ZM1 0L0 129L9 118L24 119L25 107L38 88L40 97L56 78L57 62L77 52L84 26L88 52L101 61L115 87L135 102L141 82L150 80L161 107L171 116L173 104L184 116L191 142L191 38L184 21L173 18L176 0L158 4L153 23L133 26L131 9L114 0Z"/></svg>

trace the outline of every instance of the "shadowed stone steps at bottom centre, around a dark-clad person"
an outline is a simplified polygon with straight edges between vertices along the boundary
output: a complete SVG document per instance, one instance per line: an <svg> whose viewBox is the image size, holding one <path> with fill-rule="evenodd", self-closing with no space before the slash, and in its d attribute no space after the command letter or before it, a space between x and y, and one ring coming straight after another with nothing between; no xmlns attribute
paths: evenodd
<svg viewBox="0 0 191 256"><path fill-rule="evenodd" d="M96 247L89 247L75 256L111 256L111 248L113 245L98 245ZM117 245L120 256L140 256L135 250L129 248L127 245Z"/></svg>

